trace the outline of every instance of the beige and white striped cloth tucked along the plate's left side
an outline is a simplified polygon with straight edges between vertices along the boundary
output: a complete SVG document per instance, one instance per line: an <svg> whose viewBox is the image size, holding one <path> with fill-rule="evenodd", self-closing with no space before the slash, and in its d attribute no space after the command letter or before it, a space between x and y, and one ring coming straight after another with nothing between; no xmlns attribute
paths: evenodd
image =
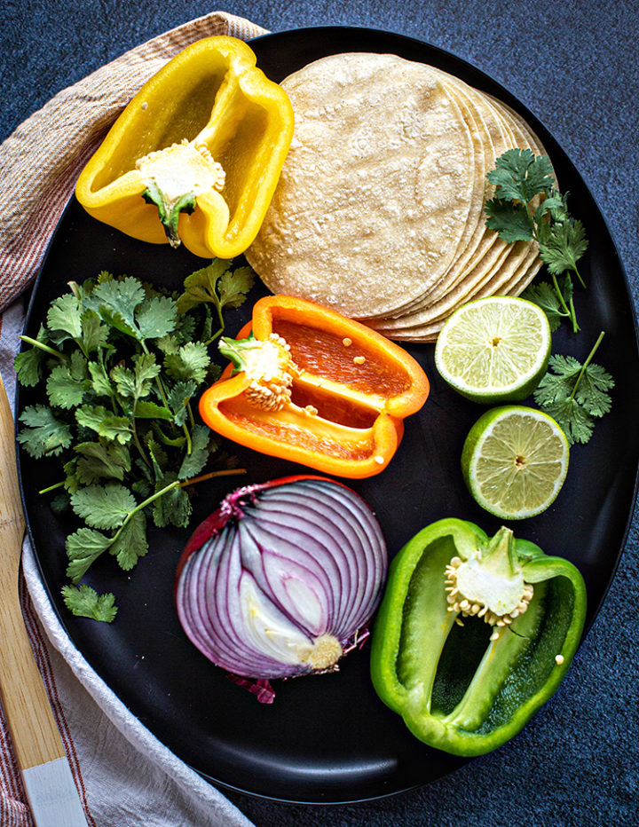
<svg viewBox="0 0 639 827"><path fill-rule="evenodd" d="M35 279L75 180L106 130L139 87L189 43L209 35L248 40L264 31L225 12L185 23L59 92L0 146L0 372L10 400L20 295ZM248 819L160 744L75 650L28 542L23 572L29 637L90 827L247 827ZM0 825L29 827L25 802L0 715Z"/></svg>

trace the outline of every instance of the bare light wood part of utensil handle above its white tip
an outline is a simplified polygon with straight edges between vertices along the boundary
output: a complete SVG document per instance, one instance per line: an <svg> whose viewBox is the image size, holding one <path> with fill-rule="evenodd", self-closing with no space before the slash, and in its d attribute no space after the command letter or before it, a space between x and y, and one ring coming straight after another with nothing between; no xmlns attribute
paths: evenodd
<svg viewBox="0 0 639 827"><path fill-rule="evenodd" d="M65 755L20 608L24 526L13 418L0 377L0 700L22 770Z"/></svg>

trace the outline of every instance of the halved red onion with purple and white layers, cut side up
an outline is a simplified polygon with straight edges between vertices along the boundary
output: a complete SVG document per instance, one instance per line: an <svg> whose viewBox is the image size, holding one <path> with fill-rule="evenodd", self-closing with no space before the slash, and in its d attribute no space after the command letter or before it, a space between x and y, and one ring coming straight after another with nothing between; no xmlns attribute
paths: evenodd
<svg viewBox="0 0 639 827"><path fill-rule="evenodd" d="M380 525L347 486L324 477L247 485L187 543L177 615L230 673L329 671L366 634L387 568Z"/></svg>

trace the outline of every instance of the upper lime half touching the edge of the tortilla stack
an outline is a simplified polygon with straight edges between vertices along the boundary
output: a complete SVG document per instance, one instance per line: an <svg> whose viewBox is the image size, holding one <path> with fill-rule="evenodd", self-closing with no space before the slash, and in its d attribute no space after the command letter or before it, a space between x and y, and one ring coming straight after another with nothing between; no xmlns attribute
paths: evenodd
<svg viewBox="0 0 639 827"><path fill-rule="evenodd" d="M546 373L550 326L537 304L493 295L463 304L438 336L435 365L473 402L520 402Z"/></svg>

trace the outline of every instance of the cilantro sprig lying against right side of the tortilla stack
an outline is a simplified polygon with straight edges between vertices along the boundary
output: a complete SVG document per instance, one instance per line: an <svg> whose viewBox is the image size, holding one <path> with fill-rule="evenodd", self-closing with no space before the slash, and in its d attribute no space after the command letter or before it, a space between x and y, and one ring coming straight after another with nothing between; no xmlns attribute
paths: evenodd
<svg viewBox="0 0 639 827"><path fill-rule="evenodd" d="M572 300L571 273L586 286L577 263L588 248L588 240L583 224L570 215L569 193L556 189L549 159L530 149L509 149L497 159L487 178L495 193L485 205L486 225L508 243L537 241L550 274L551 284L542 282L529 288L525 297L547 311L554 329L567 319L576 333L580 327Z"/></svg>

